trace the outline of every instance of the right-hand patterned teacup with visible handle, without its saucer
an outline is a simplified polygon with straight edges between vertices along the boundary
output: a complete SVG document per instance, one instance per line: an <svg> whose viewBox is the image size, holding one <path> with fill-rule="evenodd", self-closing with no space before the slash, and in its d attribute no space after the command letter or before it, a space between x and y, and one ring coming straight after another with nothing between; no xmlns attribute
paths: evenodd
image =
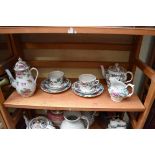
<svg viewBox="0 0 155 155"><path fill-rule="evenodd" d="M93 74L81 74L79 76L79 87L83 92L93 91L98 84L99 80L96 80L96 76Z"/></svg>

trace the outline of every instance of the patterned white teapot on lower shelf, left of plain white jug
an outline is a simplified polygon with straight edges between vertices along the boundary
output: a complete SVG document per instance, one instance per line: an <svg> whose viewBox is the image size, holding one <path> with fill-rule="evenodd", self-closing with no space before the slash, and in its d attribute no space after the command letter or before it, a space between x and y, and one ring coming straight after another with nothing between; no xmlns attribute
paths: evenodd
<svg viewBox="0 0 155 155"><path fill-rule="evenodd" d="M26 129L55 129L52 122L44 116L38 116L30 121L27 119L26 116L24 116L24 119Z"/></svg>

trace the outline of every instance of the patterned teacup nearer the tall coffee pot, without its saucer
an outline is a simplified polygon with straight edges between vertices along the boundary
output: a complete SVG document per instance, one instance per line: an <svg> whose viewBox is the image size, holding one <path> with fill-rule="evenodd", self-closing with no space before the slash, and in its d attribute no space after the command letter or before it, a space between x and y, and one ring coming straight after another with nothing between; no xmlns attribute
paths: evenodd
<svg viewBox="0 0 155 155"><path fill-rule="evenodd" d="M52 71L48 74L48 79L50 81L50 86L59 87L64 82L64 72Z"/></svg>

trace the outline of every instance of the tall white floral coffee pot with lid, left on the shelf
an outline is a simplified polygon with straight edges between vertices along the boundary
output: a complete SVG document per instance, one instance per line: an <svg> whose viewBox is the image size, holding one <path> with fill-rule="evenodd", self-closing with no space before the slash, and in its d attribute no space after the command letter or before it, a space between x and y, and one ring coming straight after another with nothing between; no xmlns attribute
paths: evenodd
<svg viewBox="0 0 155 155"><path fill-rule="evenodd" d="M16 88L18 94L23 97L30 97L36 90L36 80L38 77L38 70L34 67L29 69L29 66L21 58L14 67L16 79L13 78L11 72L6 69L6 73L9 76L11 85ZM35 79L32 76L32 70L36 71Z"/></svg>

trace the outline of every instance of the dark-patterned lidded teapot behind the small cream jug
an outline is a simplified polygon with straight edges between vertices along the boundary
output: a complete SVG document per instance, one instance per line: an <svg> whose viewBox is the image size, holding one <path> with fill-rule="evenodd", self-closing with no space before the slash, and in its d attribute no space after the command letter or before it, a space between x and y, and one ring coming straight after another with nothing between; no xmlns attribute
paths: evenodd
<svg viewBox="0 0 155 155"><path fill-rule="evenodd" d="M110 66L107 70L104 69L103 66L101 66L102 75L106 79L107 84L109 86L109 78L115 77L117 80L122 81L124 83L129 83L133 79L133 73L130 71L126 71L125 68L120 66L118 63L115 63L114 66ZM127 81L127 77L130 75L130 80Z"/></svg>

